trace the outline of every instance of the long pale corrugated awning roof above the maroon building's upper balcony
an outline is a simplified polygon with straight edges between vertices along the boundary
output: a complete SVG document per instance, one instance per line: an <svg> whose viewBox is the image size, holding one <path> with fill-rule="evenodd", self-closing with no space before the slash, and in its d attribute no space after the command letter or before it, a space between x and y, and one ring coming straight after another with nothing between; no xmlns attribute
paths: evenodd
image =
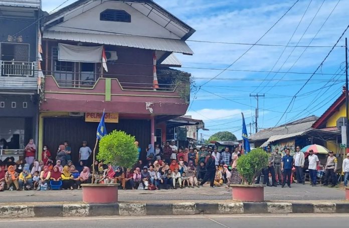
<svg viewBox="0 0 349 228"><path fill-rule="evenodd" d="M73 40L89 43L100 43L116 46L128 46L150 50L172 51L184 54L193 54L193 50L184 40L164 39L145 36L118 35L118 34L92 34L66 31L44 31L43 38L58 40Z"/></svg>

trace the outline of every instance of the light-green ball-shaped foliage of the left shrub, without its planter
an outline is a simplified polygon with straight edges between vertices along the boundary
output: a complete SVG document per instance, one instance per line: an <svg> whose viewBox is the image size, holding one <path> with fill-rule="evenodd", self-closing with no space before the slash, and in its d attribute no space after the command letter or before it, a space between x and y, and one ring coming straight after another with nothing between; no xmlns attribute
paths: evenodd
<svg viewBox="0 0 349 228"><path fill-rule="evenodd" d="M100 140L97 159L112 165L132 167L138 158L138 149L134 141L134 136L124 131L113 130Z"/></svg>

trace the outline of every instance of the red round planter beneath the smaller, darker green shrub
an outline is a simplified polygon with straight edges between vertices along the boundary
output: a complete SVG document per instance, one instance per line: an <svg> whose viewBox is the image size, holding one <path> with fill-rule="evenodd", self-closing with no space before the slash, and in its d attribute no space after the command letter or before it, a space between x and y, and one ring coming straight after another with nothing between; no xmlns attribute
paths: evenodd
<svg viewBox="0 0 349 228"><path fill-rule="evenodd" d="M264 201L264 185L230 184L233 200L262 202Z"/></svg>

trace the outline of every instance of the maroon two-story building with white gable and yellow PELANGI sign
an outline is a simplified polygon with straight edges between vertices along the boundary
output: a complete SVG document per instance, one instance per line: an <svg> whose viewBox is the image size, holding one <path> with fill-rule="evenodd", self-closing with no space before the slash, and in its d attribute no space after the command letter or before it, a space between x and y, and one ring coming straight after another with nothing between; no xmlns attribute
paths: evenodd
<svg viewBox="0 0 349 228"><path fill-rule="evenodd" d="M55 156L69 140L77 161L105 110L108 132L134 135L145 152L155 129L186 113L190 74L169 67L180 64L173 53L193 54L185 40L195 30L154 1L78 0L43 28L39 149Z"/></svg>

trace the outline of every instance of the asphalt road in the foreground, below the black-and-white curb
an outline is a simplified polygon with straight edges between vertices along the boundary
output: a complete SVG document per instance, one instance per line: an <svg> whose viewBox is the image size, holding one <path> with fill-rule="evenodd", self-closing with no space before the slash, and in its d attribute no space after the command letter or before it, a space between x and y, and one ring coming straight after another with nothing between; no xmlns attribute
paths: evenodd
<svg viewBox="0 0 349 228"><path fill-rule="evenodd" d="M243 215L188 215L188 216L146 216L146 217L82 217L82 218L29 218L0 219L0 227L37 228L115 228L115 227L191 227L191 228L336 228L346 227L348 214L243 214Z"/></svg>

